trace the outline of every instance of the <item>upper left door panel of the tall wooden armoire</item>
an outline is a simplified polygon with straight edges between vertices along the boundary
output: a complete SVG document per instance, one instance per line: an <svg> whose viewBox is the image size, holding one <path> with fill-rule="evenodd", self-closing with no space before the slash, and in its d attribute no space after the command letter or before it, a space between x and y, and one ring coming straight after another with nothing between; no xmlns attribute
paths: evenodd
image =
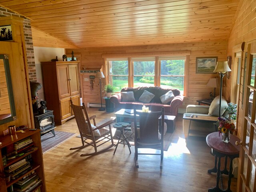
<svg viewBox="0 0 256 192"><path fill-rule="evenodd" d="M57 65L57 77L60 98L70 96L68 65Z"/></svg>

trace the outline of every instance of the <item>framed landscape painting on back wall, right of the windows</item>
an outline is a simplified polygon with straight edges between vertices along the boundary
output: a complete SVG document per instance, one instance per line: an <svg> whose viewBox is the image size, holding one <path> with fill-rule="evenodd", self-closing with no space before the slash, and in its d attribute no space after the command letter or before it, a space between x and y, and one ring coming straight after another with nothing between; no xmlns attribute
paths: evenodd
<svg viewBox="0 0 256 192"><path fill-rule="evenodd" d="M196 73L214 73L218 57L197 57Z"/></svg>

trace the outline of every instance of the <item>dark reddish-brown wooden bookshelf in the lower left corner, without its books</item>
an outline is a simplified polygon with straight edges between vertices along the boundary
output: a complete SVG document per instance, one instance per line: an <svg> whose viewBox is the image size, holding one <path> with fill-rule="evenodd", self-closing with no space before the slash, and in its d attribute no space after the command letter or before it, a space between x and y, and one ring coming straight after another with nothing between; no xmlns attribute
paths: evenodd
<svg viewBox="0 0 256 192"><path fill-rule="evenodd" d="M14 159L7 160L7 164L4 165L2 158L4 155L6 155L7 147L14 145L15 142L18 142L20 140L23 140L25 138L32 138L32 141L34 143L34 150L25 153L24 155L18 156ZM41 136L40 136L40 130L25 130L24 133L17 132L14 135L6 135L0 137L0 142L2 144L0 145L0 192L7 192L8 188L18 182L21 178L23 178L25 175L36 172L36 174L39 176L39 178L42 180L41 184L34 188L32 192L35 192L40 188L40 192L46 192L46 186L45 186L45 177L44 177L44 163L43 163L43 156L42 156L42 146L41 146ZM31 156L31 166L32 168L28 170L26 173L22 174L18 178L11 179L10 182L5 180L6 173L4 172L4 169L9 167L10 165L19 162L20 160L27 158L28 156Z"/></svg>

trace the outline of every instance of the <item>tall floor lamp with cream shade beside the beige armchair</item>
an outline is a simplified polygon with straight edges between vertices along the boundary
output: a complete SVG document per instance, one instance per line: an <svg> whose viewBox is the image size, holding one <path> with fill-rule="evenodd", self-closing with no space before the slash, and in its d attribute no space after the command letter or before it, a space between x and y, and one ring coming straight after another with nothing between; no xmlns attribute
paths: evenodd
<svg viewBox="0 0 256 192"><path fill-rule="evenodd" d="M220 74L220 107L219 107L219 118L220 118L220 111L221 111L221 97L222 97L222 79L226 72L231 71L231 69L228 66L228 62L217 62L217 65L213 72L218 72Z"/></svg>

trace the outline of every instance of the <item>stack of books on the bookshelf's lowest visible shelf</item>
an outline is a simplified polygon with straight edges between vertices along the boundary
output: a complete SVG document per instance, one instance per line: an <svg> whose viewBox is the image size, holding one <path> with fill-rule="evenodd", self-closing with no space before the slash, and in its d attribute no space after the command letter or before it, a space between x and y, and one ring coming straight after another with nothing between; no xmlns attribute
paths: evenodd
<svg viewBox="0 0 256 192"><path fill-rule="evenodd" d="M31 172L13 184L14 192L30 192L41 184L41 179L36 172Z"/></svg>

